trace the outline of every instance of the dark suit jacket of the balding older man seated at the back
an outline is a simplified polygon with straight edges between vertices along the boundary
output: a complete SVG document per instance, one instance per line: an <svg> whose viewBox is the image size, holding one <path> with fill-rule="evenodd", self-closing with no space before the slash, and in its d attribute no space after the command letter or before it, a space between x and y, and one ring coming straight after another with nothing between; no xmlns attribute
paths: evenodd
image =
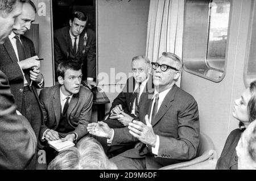
<svg viewBox="0 0 256 181"><path fill-rule="evenodd" d="M133 109L133 104L131 103L131 99L132 99L132 95L135 89L135 79L134 77L130 77L127 79L126 81L126 85L125 87L123 87L122 92L120 92L120 94L117 96L117 98L115 98L113 100L112 106L110 108L110 111L112 111L112 109L121 104L123 111L125 113L130 114L131 110ZM143 92L147 92L148 90L152 90L153 85L152 85L152 75L149 75L148 81L146 86L144 87ZM142 97L142 96L141 96ZM141 102L141 97L140 97L140 102Z"/></svg>

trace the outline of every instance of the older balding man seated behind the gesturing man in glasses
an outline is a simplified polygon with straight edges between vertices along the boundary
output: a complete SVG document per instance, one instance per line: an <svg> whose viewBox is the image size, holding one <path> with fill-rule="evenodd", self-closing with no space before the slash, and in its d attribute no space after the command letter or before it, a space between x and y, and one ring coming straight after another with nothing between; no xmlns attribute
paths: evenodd
<svg viewBox="0 0 256 181"><path fill-rule="evenodd" d="M128 118L136 116L142 93L152 89L151 65L147 57L133 57L131 69L133 77L127 79L123 91L113 100L110 108L110 116L122 114L124 117L105 121L110 128L126 127L130 120Z"/></svg>

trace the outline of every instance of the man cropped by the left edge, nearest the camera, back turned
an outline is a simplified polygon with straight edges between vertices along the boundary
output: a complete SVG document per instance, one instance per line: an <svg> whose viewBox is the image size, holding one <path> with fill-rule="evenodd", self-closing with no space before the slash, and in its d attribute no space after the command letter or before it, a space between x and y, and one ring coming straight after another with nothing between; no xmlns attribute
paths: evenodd
<svg viewBox="0 0 256 181"><path fill-rule="evenodd" d="M20 0L0 0L0 44L5 42L14 21L22 12ZM0 62L2 58L0 59ZM14 96L6 75L0 70L0 169L26 169L36 150L36 137L31 125L17 115Z"/></svg>

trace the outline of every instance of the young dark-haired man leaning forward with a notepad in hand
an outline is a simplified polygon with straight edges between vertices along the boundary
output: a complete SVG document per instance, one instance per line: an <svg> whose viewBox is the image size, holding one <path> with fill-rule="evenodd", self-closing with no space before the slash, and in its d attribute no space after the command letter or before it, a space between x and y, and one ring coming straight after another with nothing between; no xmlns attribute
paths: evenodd
<svg viewBox="0 0 256 181"><path fill-rule="evenodd" d="M47 161L55 157L47 141L68 140L75 142L87 133L91 120L93 94L80 87L82 71L78 62L65 61L57 68L60 85L40 92L43 123L40 128L40 143L46 150ZM49 152L49 153L47 153Z"/></svg>

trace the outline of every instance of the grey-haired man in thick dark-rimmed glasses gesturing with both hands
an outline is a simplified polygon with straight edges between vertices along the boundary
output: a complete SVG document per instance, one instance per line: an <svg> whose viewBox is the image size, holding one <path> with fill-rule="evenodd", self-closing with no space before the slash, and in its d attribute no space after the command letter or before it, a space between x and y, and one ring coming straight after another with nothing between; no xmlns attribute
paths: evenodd
<svg viewBox="0 0 256 181"><path fill-rule="evenodd" d="M196 100L175 85L180 58L164 52L152 69L154 94L142 95L137 120L119 129L102 122L88 125L90 134L107 137L110 145L139 141L136 148L112 158L118 169L159 169L196 156L199 113Z"/></svg>

